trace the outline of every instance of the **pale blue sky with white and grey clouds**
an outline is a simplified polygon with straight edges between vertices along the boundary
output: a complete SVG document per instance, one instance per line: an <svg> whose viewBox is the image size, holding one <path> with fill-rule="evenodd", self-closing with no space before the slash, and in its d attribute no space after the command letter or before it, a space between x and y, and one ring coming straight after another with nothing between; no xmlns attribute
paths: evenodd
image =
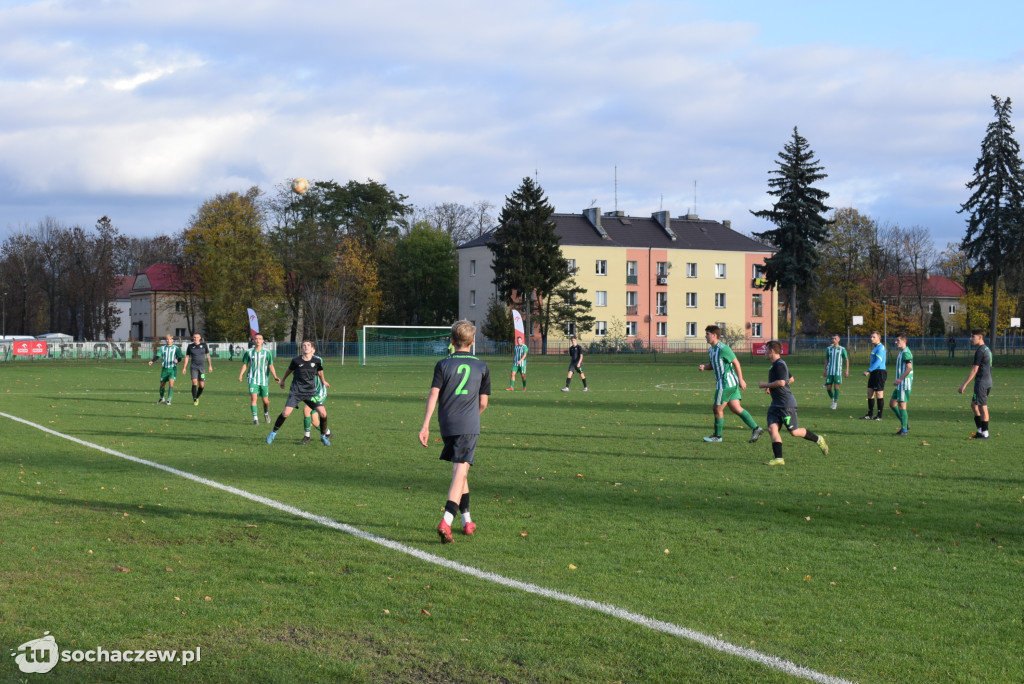
<svg viewBox="0 0 1024 684"><path fill-rule="evenodd" d="M496 214L530 176L558 212L749 233L797 127L829 206L941 250L991 95L1024 96L1021 26L1019 0L0 0L0 239L173 234L300 176Z"/></svg>

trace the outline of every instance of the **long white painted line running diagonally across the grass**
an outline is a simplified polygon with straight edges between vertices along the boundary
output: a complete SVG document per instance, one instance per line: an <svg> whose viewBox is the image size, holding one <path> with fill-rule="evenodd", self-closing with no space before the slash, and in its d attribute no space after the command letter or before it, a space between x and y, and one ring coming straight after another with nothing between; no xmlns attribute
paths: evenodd
<svg viewBox="0 0 1024 684"><path fill-rule="evenodd" d="M312 522L322 524L326 527L331 527L332 529L337 529L338 531L345 532L346 535L351 535L352 537L357 537L359 539L366 540L368 542L373 542L374 544L379 544L380 546L386 547L393 551L403 553L420 560L426 561L428 563L433 563L434 565L440 565L446 567L456 572L462 572L463 574L468 574L478 580L483 580L484 582L490 582L503 587L509 587L511 589L518 589L519 591L526 592L528 594L536 594L538 596L543 596L545 598L554 599L556 601L564 601L565 603L570 603L580 608L588 608L590 610L596 610L597 612L603 612L612 617L618 617L620 619L625 619L634 625L639 625L640 627L645 627L649 630L654 630L655 632L664 632L665 634L671 634L673 636L682 637L683 639L688 639L689 641L694 641L708 648L713 648L717 651L723 653L728 653L730 655L735 655L748 660L753 660L754 662L759 662L772 670L778 670L787 675L793 675L794 677L802 677L804 679L810 680L812 682L821 682L822 684L853 684L849 680L841 679L839 677L833 677L830 675L825 675L823 673L811 670L809 668L804 668L790 660L785 660L774 655L768 655L760 651L756 651L753 648L745 648L743 646L737 646L735 644L730 644L727 641L722 641L710 635L703 634L701 632L696 632L694 630L687 629L685 627L680 627L673 623L666 623L660 619L654 619L653 617L647 617L646 615L641 615L640 613L631 612L624 608L613 606L609 603L600 603L598 601L592 601L590 599L581 598L572 594L566 594L564 592L556 591L554 589L546 589L539 585L530 584L528 582L520 582L519 580L512 580L495 572L488 572L486 570L481 570L471 565L464 565L463 563L456 562L454 560L449 560L447 558L441 558L440 556L435 556L432 553L427 553L426 551L421 551L420 549L406 546L398 542L386 539L384 537L378 537L371 532L364 531L357 527L345 524L344 522L338 522L337 520L332 520L314 513L308 513L301 509L295 508L294 506L289 506L288 504L283 504L273 499L267 499L266 497L261 497L257 494L252 494L246 491L245 489L239 489L238 487L230 486L229 484L221 484L220 482L207 479L205 477L200 477L193 473L186 472L184 470L178 470L177 468L172 468L171 466L165 466L161 463L155 461L147 461L145 459L140 459L135 456L129 456L128 454L122 454L121 452L116 452L113 448L106 448L105 446L100 446L99 444L93 444L92 442L85 441L84 439L79 439L78 437L72 437L71 435L62 434L56 430L51 430L48 427L38 425L31 421L27 421L24 418L18 418L17 416L11 416L10 414L5 414L0 412L0 416L28 425L29 427L34 427L37 430L42 430L47 434L51 434L55 437L60 437L61 439L67 439L73 441L76 444L81 444L83 446L88 446L89 448L94 448L98 452L104 454L110 454L111 456L116 456L119 459L124 459L126 461L131 461L132 463L137 463L139 465L148 466L151 468L156 468L158 470L163 470L165 472L171 473L172 475L177 475L178 477L183 477L186 480L191 480L193 482L198 482L200 484L205 484L211 486L215 489L220 489L221 491L226 491L228 494L233 494L243 499L248 499L249 501L256 502L257 504L263 504L270 508L276 509L284 513L294 515L299 518L304 518Z"/></svg>

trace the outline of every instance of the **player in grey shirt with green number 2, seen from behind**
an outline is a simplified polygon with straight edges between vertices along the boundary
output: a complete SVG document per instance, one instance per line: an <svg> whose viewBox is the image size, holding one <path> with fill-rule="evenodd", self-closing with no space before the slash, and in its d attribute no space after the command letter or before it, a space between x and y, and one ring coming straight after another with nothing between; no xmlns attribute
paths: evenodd
<svg viewBox="0 0 1024 684"><path fill-rule="evenodd" d="M476 327L468 320L452 326L455 353L434 366L427 410L420 428L420 443L427 446L430 417L436 408L444 441L441 461L452 462L452 484L444 503L444 517L437 525L442 544L455 541L452 522L457 513L462 514L463 535L476 531L476 523L469 514L469 468L473 465L476 440L480 436L480 414L486 410L490 394L490 373L486 364L470 353L475 337Z"/></svg>

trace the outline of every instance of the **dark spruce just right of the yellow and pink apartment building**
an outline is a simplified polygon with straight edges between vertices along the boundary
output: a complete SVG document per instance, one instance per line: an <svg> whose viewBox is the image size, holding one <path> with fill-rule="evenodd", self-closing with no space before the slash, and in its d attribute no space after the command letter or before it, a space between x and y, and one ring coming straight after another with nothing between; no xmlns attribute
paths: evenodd
<svg viewBox="0 0 1024 684"><path fill-rule="evenodd" d="M777 227L755 237L770 243L776 252L765 260L765 289L778 288L790 295L790 349L796 349L797 294L810 292L815 281L815 269L820 256L818 245L828 234L829 221L824 214L830 211L824 201L828 193L814 187L813 183L828 174L814 159L814 152L796 127L793 139L778 154L778 168L771 171L768 195L778 200L771 209L751 212Z"/></svg>

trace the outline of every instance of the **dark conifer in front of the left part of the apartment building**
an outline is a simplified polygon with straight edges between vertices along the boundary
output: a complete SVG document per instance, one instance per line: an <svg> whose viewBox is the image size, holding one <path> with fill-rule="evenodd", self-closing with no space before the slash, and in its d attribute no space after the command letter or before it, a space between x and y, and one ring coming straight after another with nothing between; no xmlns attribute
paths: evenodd
<svg viewBox="0 0 1024 684"><path fill-rule="evenodd" d="M543 301L569 275L551 220L554 213L544 189L527 176L505 198L494 242L488 245L495 255L498 293L506 302L522 300L527 343L532 296ZM547 351L547 336L542 335L542 353Z"/></svg>

